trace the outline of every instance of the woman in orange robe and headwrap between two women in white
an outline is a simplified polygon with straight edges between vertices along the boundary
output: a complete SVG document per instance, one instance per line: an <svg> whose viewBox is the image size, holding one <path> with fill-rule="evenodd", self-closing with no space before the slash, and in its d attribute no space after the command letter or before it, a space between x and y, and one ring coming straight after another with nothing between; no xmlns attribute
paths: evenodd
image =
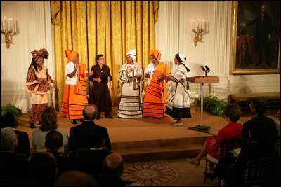
<svg viewBox="0 0 281 187"><path fill-rule="evenodd" d="M159 62L161 59L161 53L159 50L150 50L150 60L152 64L148 64L145 69L145 77L148 79L148 85L145 90L145 98L143 99L143 117L146 118L164 118L168 116L166 111L166 80L162 76L156 76L157 74L170 74L171 69ZM150 79L151 78L151 79Z"/></svg>

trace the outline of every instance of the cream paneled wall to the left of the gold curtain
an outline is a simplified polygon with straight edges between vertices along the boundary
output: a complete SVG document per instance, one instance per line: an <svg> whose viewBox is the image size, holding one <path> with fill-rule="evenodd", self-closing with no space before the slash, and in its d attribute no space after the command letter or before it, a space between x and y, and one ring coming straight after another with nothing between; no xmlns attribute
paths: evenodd
<svg viewBox="0 0 281 187"><path fill-rule="evenodd" d="M32 50L48 50L49 58L44 63L55 79L50 1L1 1L1 19L4 16L17 20L18 34L12 36L10 48L6 48L4 34L1 34L1 106L12 103L27 113L31 104L25 81ZM51 106L55 104L54 98L52 90Z"/></svg>

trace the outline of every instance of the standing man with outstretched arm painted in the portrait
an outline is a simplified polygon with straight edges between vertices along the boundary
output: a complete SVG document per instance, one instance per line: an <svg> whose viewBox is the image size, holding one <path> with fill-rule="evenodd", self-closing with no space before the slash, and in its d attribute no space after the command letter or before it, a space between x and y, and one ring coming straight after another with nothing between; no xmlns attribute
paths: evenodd
<svg viewBox="0 0 281 187"><path fill-rule="evenodd" d="M251 22L241 23L243 27L250 25L253 25L256 23L256 35L255 35L255 41L256 41L256 50L259 53L259 62L256 63L256 65L261 64L261 57L262 57L262 50L265 52L266 56L266 64L270 66L270 40L271 40L271 34L273 32L273 25L270 17L267 13L266 5L261 6L261 14L258 15L254 20Z"/></svg>

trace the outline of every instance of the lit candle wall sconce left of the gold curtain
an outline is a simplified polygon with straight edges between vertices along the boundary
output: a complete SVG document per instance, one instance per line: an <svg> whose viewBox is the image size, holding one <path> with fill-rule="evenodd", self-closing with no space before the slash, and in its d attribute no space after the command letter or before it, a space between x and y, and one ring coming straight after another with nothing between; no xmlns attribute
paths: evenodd
<svg viewBox="0 0 281 187"><path fill-rule="evenodd" d="M1 34L5 35L5 43L7 48L10 48L10 34L13 34L15 29L15 22L13 18L8 18L6 20L6 16L1 20Z"/></svg>

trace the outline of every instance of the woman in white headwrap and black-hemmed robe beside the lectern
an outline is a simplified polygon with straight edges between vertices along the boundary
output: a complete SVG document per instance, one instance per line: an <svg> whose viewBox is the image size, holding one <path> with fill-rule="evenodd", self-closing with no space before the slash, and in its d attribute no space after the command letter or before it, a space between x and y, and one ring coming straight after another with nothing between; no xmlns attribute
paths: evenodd
<svg viewBox="0 0 281 187"><path fill-rule="evenodd" d="M174 120L174 126L183 125L182 118L191 118L190 114L190 94L188 81L188 72L190 69L184 64L186 57L183 53L176 54L174 62L176 67L171 74L166 73L164 69L164 74L158 74L157 76L163 76L163 78L168 79L168 97L166 103L166 114L172 116Z"/></svg>

